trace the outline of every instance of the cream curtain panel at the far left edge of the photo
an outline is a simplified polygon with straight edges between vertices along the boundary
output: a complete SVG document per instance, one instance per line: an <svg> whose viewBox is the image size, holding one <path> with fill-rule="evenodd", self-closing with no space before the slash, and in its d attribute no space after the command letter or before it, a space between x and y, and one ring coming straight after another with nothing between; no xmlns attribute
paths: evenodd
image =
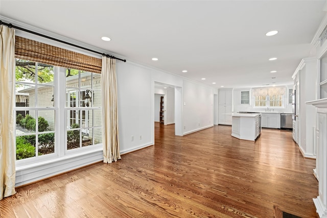
<svg viewBox="0 0 327 218"><path fill-rule="evenodd" d="M16 151L14 144L15 31L0 26L0 200L14 195Z"/></svg>

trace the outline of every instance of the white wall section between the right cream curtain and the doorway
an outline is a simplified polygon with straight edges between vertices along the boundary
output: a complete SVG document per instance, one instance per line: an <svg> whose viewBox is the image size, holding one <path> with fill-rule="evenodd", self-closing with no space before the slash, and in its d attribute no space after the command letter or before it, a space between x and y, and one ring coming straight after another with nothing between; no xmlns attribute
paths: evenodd
<svg viewBox="0 0 327 218"><path fill-rule="evenodd" d="M116 62L121 153L153 144L151 70L130 62ZM132 136L134 139L132 140Z"/></svg>

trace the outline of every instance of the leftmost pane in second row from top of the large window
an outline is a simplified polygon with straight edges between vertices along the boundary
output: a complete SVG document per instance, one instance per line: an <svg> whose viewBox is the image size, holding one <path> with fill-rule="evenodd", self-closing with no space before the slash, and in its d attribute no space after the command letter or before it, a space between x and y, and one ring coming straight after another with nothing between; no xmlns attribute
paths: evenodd
<svg viewBox="0 0 327 218"><path fill-rule="evenodd" d="M16 83L16 107L35 107L35 85Z"/></svg>

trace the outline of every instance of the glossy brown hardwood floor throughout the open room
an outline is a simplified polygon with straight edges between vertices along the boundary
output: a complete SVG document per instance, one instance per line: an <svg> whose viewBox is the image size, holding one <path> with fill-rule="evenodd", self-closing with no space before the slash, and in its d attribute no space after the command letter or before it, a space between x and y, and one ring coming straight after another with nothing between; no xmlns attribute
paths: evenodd
<svg viewBox="0 0 327 218"><path fill-rule="evenodd" d="M155 124L155 146L17 188L1 217L273 217L274 205L316 217L315 160L291 131L263 129L253 141L215 126L175 136Z"/></svg>

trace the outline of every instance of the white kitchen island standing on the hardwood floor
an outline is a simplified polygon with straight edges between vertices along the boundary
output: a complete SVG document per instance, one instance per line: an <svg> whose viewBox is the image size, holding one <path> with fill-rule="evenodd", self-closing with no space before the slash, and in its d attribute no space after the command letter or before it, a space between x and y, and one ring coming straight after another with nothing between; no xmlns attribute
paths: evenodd
<svg viewBox="0 0 327 218"><path fill-rule="evenodd" d="M261 134L260 113L232 113L231 136L255 141Z"/></svg>

